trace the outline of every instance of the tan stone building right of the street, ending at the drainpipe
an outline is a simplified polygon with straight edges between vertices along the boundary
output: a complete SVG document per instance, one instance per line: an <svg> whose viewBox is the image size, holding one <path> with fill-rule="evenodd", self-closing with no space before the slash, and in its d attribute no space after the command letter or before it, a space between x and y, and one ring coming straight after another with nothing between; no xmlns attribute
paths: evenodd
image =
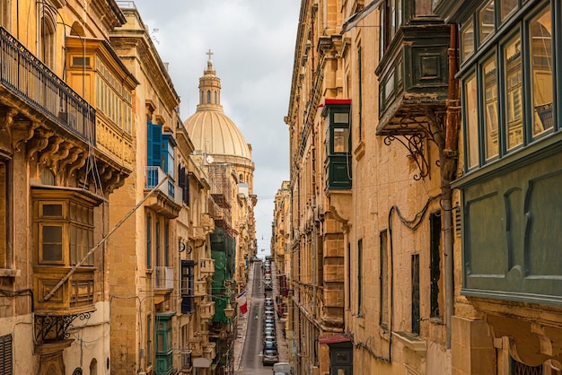
<svg viewBox="0 0 562 375"><path fill-rule="evenodd" d="M302 2L285 118L295 373L451 373L449 46L431 1Z"/></svg>

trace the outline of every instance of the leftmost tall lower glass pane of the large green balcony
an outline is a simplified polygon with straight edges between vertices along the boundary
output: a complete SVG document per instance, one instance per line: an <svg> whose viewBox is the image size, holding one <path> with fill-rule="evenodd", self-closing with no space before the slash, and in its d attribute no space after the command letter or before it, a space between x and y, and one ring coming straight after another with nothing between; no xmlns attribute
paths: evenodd
<svg viewBox="0 0 562 375"><path fill-rule="evenodd" d="M469 169L479 164L479 115L476 93L476 77L464 84L467 163Z"/></svg>

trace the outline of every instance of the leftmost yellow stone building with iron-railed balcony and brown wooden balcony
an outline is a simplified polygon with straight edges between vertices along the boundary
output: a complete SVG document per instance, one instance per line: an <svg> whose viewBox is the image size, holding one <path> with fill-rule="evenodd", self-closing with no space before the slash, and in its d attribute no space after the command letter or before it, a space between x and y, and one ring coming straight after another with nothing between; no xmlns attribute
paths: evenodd
<svg viewBox="0 0 562 375"><path fill-rule="evenodd" d="M113 0L0 2L0 355L8 373L107 371L109 199L133 170L136 80L109 47L123 22Z"/></svg>

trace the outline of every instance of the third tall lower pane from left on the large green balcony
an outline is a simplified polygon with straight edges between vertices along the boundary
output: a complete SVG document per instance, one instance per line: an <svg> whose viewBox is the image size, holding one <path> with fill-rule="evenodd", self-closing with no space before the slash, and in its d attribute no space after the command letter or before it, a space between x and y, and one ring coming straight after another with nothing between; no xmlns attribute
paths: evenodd
<svg viewBox="0 0 562 375"><path fill-rule="evenodd" d="M521 39L512 39L504 48L505 118L507 120L507 149L522 144L522 67Z"/></svg>

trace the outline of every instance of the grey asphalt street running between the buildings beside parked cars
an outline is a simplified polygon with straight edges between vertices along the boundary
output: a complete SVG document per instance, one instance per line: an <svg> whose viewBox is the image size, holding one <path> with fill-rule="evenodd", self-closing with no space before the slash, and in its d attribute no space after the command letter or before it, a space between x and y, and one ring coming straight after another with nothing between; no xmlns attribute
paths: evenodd
<svg viewBox="0 0 562 375"><path fill-rule="evenodd" d="M254 262L250 273L249 284L251 283L251 304L248 309L248 322L246 326L245 337L243 339L243 349L241 350L241 360L238 370L235 372L240 374L271 374L272 367L264 366L261 362L261 351L263 345L262 339L262 324L264 317L264 299L266 297L264 290L263 277L263 263ZM274 268L275 270L275 268ZM274 271L274 275L275 271ZM274 277L275 280L275 277ZM278 292L277 283L274 283L273 292L269 292L275 300L275 295ZM258 318L256 317L258 314ZM282 327L277 321L277 343L280 362L285 362L286 358L286 344L282 334Z"/></svg>

